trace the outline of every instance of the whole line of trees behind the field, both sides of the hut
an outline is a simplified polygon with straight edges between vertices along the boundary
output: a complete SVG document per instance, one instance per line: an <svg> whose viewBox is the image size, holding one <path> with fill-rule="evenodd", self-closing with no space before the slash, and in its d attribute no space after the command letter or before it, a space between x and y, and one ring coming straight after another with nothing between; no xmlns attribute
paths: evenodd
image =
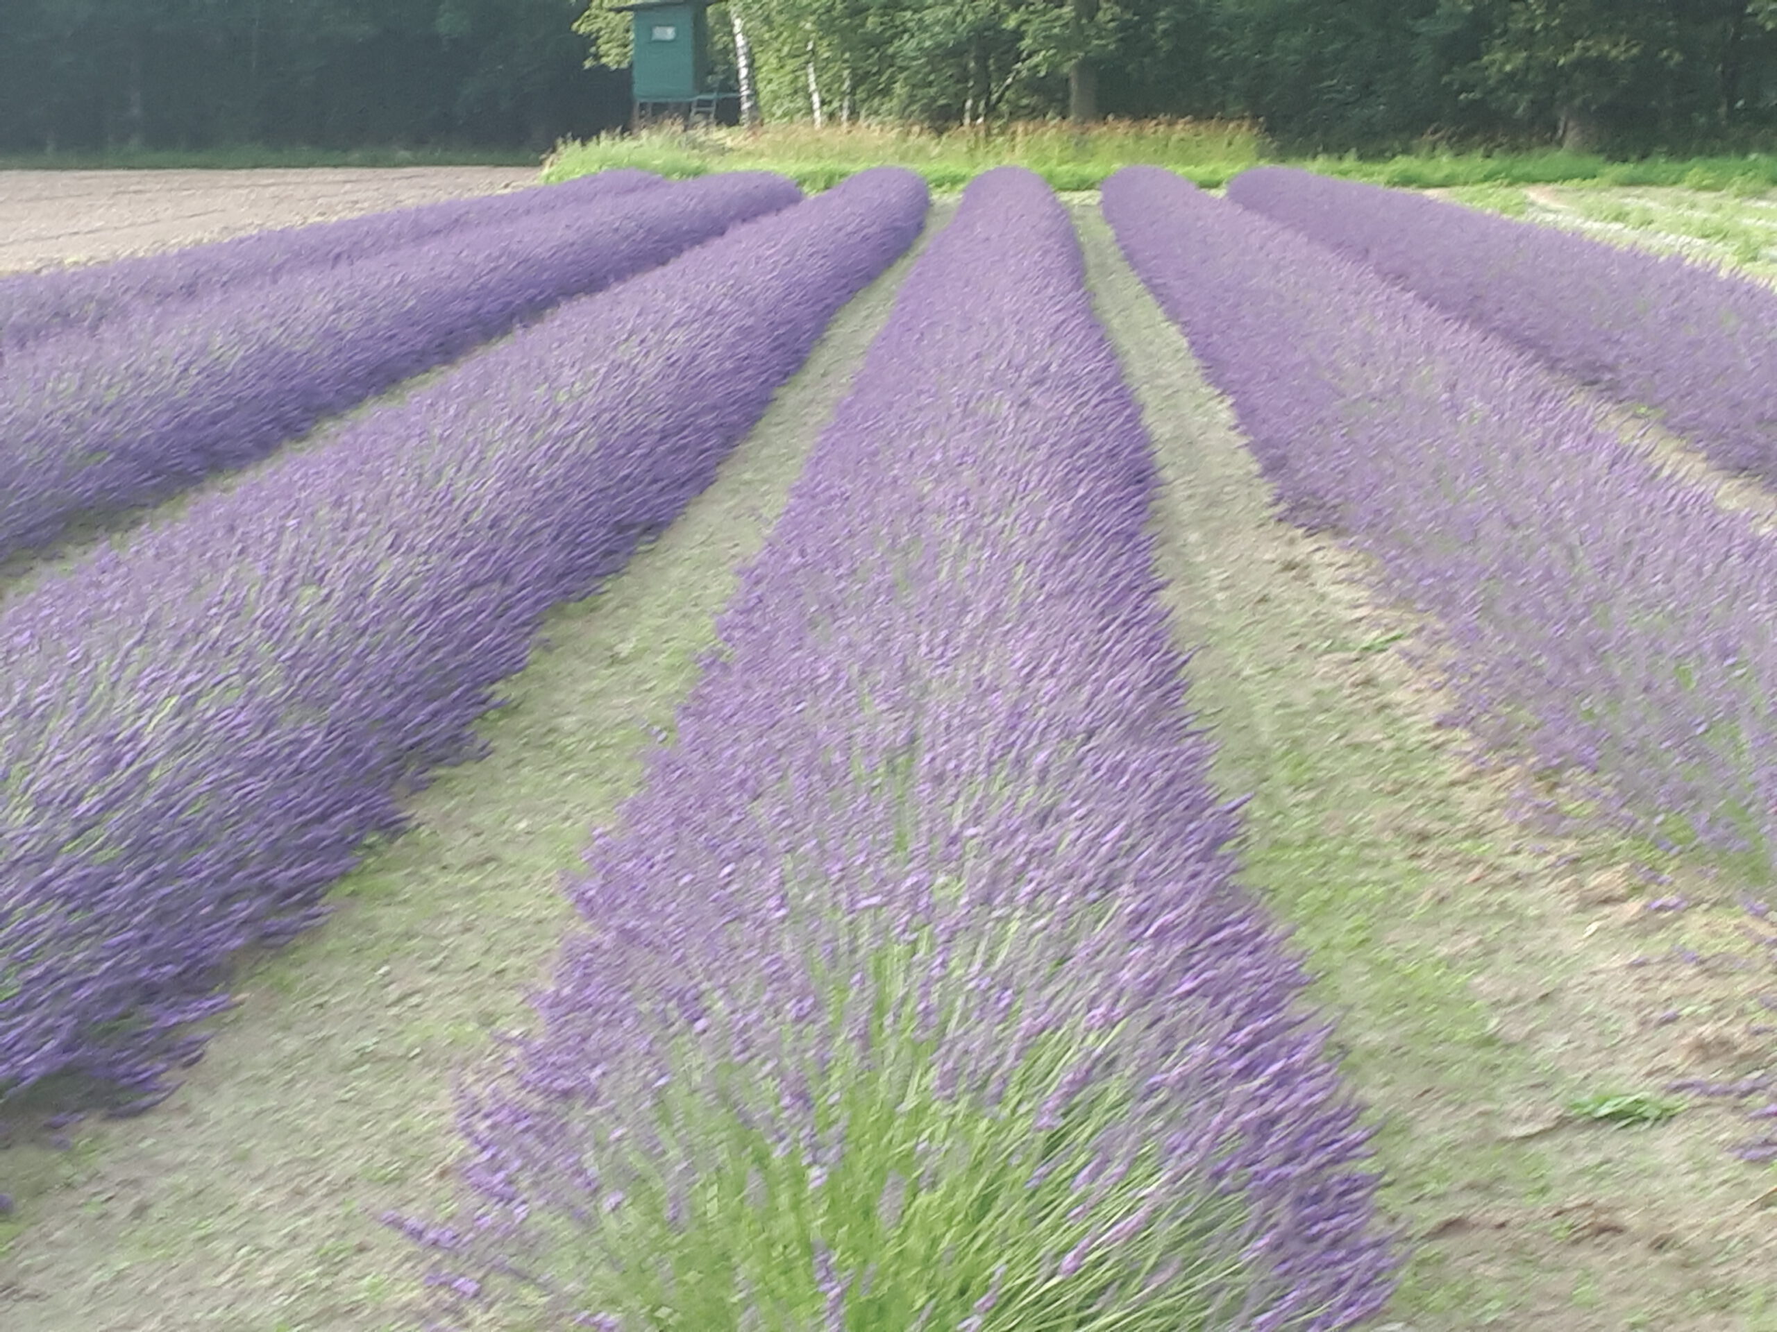
<svg viewBox="0 0 1777 1332"><path fill-rule="evenodd" d="M618 0L4 0L0 151L547 147L627 115ZM1287 147L1750 146L1777 0L725 0L764 121L1255 117Z"/></svg>

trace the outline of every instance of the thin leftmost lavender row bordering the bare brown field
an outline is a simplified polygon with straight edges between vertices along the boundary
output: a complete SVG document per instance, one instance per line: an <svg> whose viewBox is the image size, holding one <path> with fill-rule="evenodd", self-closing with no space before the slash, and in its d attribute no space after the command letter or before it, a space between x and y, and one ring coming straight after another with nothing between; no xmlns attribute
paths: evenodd
<svg viewBox="0 0 1777 1332"><path fill-rule="evenodd" d="M606 170L565 185L258 231L89 268L0 277L0 362L41 337L68 329L94 329L133 307L185 300L302 268L350 263L467 227L533 220L560 208L583 208L629 194L657 179L645 170Z"/></svg>

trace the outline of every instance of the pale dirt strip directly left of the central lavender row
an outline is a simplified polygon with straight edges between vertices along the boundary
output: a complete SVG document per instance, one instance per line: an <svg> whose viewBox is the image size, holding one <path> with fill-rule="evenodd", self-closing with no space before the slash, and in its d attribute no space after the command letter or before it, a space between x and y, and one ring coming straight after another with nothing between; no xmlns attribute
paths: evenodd
<svg viewBox="0 0 1777 1332"><path fill-rule="evenodd" d="M949 208L933 210L928 236ZM853 300L716 483L602 593L554 613L489 719L492 753L412 801L334 918L247 970L171 1101L9 1149L7 1332L371 1332L412 1300L384 1209L441 1217L451 1071L528 1021L556 892L640 781L732 593L906 274Z"/></svg>

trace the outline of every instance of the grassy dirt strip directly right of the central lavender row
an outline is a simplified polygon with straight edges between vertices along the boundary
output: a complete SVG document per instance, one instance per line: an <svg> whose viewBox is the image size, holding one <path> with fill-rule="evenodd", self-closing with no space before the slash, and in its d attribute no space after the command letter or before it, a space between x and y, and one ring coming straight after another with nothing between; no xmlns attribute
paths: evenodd
<svg viewBox="0 0 1777 1332"><path fill-rule="evenodd" d="M1562 1114L1656 1090L1686 1062L1718 1071L1720 1050L1677 1034L1688 1023L1653 1028L1661 982L1628 966L1679 927L1640 909L1614 838L1537 836L1507 815L1510 789L1436 725L1400 650L1414 623L1374 604L1356 558L1272 519L1183 339L1096 210L1075 217L1162 465L1191 700L1219 781L1253 794L1244 879L1322 977L1383 1124L1386 1204L1418 1241L1393 1316L1414 1332L1777 1327L1761 1302L1777 1222L1754 1206L1770 1181L1725 1154L1724 1121Z"/></svg>

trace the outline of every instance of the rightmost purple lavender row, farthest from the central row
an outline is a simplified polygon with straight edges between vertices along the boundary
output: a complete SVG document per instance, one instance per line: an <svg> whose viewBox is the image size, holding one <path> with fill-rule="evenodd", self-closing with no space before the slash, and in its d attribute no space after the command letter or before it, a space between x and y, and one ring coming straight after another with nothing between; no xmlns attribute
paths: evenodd
<svg viewBox="0 0 1777 1332"><path fill-rule="evenodd" d="M1777 291L1677 256L1290 167L1242 172L1228 197L1658 408L1718 465L1777 483Z"/></svg>

